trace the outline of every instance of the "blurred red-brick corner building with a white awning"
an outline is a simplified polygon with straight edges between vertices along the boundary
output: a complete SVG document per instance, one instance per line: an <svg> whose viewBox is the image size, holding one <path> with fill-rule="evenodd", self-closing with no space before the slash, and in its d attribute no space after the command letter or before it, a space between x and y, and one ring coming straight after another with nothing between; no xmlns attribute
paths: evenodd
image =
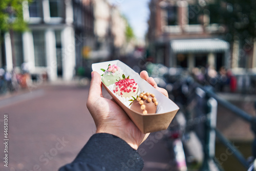
<svg viewBox="0 0 256 171"><path fill-rule="evenodd" d="M205 1L152 0L147 41L155 62L168 67L231 68L225 26L211 20ZM256 66L255 66L256 67Z"/></svg>

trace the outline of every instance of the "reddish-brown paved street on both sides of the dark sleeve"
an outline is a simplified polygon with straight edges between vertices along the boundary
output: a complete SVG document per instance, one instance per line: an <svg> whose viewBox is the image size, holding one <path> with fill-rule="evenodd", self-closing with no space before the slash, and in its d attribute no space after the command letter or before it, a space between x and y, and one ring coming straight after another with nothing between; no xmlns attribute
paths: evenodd
<svg viewBox="0 0 256 171"><path fill-rule="evenodd" d="M95 132L86 108L88 87L44 86L0 100L0 139L4 140L4 114L9 120L9 167L3 166L4 146L0 145L0 170L57 170L71 162ZM103 93L106 94L106 93ZM170 156L166 143L152 134L141 145L143 171L167 170ZM153 144L153 145L152 145Z"/></svg>

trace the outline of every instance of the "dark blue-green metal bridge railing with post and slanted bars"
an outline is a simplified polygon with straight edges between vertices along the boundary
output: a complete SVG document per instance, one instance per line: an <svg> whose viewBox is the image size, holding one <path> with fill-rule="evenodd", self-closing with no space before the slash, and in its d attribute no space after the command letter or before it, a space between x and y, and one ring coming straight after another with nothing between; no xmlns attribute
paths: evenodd
<svg viewBox="0 0 256 171"><path fill-rule="evenodd" d="M241 110L237 106L233 105L232 103L222 99L219 97L214 91L211 89L207 89L203 86L201 86L198 83L195 83L195 86L197 89L201 89L205 93L205 100L207 100L206 103L206 113L207 113L207 120L204 122L205 124L205 136L204 136L204 162L202 164L201 170L210 170L209 166L209 161L216 161L215 156L212 155L212 142L215 142L215 139L212 139L212 132L214 132L215 136L218 137L219 141L225 145L227 148L230 149L231 153L233 154L234 157L243 165L245 169L248 169L250 167L250 163L247 161L247 159L242 155L242 153L234 147L234 145L216 128L216 121L212 121L213 118L217 116L217 104L212 102L216 101L218 105L222 105L224 108L227 110L231 111L232 114L234 114L234 117L239 117L243 119L245 122L251 125L251 131L254 134L254 142L252 145L252 154L254 159L256 158L256 117L252 116L245 111ZM254 102L254 107L256 110L256 101ZM214 124L212 124L215 122ZM213 152L214 153L214 152ZM218 165L218 164L217 164ZM220 170L222 168L219 168Z"/></svg>

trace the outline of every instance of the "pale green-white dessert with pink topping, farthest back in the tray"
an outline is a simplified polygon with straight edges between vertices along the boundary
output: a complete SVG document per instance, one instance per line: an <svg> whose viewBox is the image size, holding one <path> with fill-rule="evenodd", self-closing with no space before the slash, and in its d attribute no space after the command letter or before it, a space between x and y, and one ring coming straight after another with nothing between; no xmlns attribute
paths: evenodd
<svg viewBox="0 0 256 171"><path fill-rule="evenodd" d="M122 70L117 65L109 65L108 69L104 71L101 80L106 86L110 86L119 80L122 77L122 74Z"/></svg>

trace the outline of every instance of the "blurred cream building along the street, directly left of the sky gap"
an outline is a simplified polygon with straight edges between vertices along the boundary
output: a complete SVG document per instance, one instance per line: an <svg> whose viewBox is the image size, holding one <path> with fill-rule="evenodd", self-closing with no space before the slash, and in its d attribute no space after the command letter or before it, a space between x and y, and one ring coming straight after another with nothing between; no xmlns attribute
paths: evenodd
<svg viewBox="0 0 256 171"><path fill-rule="evenodd" d="M95 44L90 45L89 58L115 58L125 44L126 23L119 9L107 0L94 0Z"/></svg>

